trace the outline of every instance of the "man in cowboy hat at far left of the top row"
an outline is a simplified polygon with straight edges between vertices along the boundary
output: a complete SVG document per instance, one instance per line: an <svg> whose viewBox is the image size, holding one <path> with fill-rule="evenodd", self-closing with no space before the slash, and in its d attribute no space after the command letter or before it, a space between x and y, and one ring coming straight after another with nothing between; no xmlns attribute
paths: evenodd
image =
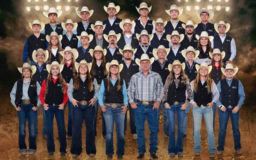
<svg viewBox="0 0 256 160"><path fill-rule="evenodd" d="M57 22L57 18L60 17L62 11L58 11L52 7L49 9L49 12L43 12L44 16L49 18L50 22L45 25L45 28L41 31L41 33L46 34L48 36L51 35L53 31L57 32L58 35L64 35L63 28L61 24Z"/></svg>

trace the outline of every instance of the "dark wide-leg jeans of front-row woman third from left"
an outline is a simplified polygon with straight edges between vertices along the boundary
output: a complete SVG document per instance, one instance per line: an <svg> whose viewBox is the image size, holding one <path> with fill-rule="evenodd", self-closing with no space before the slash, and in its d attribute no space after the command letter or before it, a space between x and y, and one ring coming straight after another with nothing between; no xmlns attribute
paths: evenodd
<svg viewBox="0 0 256 160"><path fill-rule="evenodd" d="M96 154L95 147L95 136L93 132L93 123L94 123L94 113L95 107L89 106L89 103L85 106L77 104L78 107L72 107L72 142L70 152L71 154L80 155L83 151L82 149L82 126L83 122L86 129L86 139L85 139L85 148L86 154Z"/></svg>

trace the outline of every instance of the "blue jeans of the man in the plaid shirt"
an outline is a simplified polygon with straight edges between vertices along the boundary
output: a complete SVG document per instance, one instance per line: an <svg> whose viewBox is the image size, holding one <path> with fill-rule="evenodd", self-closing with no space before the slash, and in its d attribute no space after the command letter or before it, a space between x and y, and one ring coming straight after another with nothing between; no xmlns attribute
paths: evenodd
<svg viewBox="0 0 256 160"><path fill-rule="evenodd" d="M146 152L145 144L145 121L147 117L149 134L149 152L154 154L157 151L157 109L153 110L154 104L148 106L143 105L142 103L137 103L137 108L135 109L135 125L137 131L137 144L138 144L138 153L144 154Z"/></svg>

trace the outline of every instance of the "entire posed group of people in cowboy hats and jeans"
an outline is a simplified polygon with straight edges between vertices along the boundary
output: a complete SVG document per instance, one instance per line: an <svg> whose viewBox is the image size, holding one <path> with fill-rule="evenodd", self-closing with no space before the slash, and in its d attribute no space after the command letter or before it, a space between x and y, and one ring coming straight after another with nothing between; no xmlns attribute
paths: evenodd
<svg viewBox="0 0 256 160"><path fill-rule="evenodd" d="M109 17L92 23L93 10L76 11L82 21L71 19L58 23L62 11L50 8L43 12L50 22L29 23L33 34L26 39L22 79L10 93L19 119L19 152L33 155L38 134L38 107L42 104L43 130L49 155L55 152L53 118L55 115L60 141L60 155L66 156L67 139L70 152L82 152L82 124L86 127L86 154L96 154L97 115L100 105L102 136L106 139L106 155L114 154L113 131L116 124L117 158L123 158L127 110L132 138L137 139L137 158L143 158L145 120L150 131L149 153L158 158L157 136L161 107L164 115L164 136L169 138L170 157L183 156L183 138L187 136L188 112L191 107L194 148L201 152L201 121L204 115L208 134L209 157L224 151L230 116L234 149L242 154L238 128L239 109L244 88L233 76L238 68L231 64L236 45L226 35L229 23L212 24L212 10L196 11L201 23L179 20L183 8L172 5L166 13L171 20L148 18L151 6L136 7L140 17L131 21L116 17L120 7L104 6ZM29 59L29 60L28 60ZM28 61L28 63L27 63ZM66 132L64 110L68 105ZM218 147L215 148L214 122L216 105L219 113ZM190 106L190 107L189 107ZM177 115L177 138L175 116ZM28 120L29 148L25 143ZM192 134L192 133L191 133ZM203 133L205 134L205 133ZM66 137L67 136L67 137Z"/></svg>

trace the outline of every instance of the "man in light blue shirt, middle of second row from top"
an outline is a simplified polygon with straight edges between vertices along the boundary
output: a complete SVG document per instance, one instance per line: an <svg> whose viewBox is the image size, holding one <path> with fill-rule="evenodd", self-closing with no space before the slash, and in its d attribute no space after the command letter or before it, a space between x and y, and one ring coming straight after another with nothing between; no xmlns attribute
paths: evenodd
<svg viewBox="0 0 256 160"><path fill-rule="evenodd" d="M135 34L132 34L132 29L135 27L136 23L131 22L130 19L120 22L119 27L124 30L124 33L121 34L119 41L116 43L119 47L124 48L126 44L130 44L132 48L135 48L139 45L139 41L136 38Z"/></svg>

